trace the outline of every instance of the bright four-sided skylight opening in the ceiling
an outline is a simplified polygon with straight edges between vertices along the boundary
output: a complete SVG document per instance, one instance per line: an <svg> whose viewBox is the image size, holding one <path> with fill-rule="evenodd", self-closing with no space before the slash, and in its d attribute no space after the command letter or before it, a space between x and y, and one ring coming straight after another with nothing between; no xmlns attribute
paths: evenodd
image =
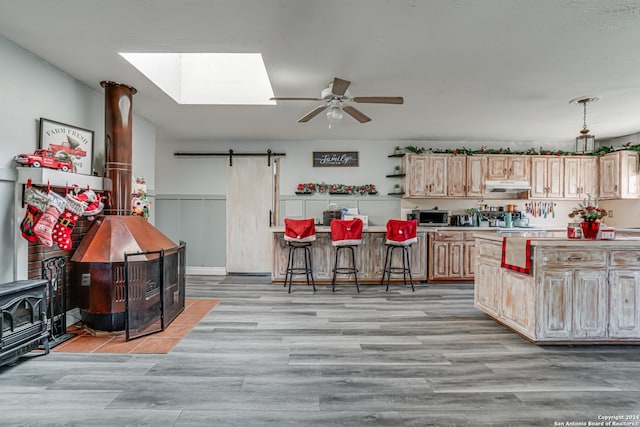
<svg viewBox="0 0 640 427"><path fill-rule="evenodd" d="M276 105L259 53L120 53L179 104Z"/></svg>

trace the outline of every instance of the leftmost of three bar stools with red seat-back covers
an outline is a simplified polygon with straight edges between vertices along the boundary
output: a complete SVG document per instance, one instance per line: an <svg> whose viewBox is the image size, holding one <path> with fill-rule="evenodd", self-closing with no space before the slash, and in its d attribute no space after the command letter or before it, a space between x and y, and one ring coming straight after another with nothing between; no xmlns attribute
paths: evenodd
<svg viewBox="0 0 640 427"><path fill-rule="evenodd" d="M313 291L316 291L316 284L313 280L313 269L311 266L311 244L316 240L316 225L314 218L308 219L290 219L284 220L284 240L289 246L289 260L287 261L287 272L284 278L284 287L287 287L289 281L289 293L291 293L291 282L293 282L294 274L304 274L307 277L307 286L313 285ZM296 267L296 252L302 252L304 258L304 266Z"/></svg>

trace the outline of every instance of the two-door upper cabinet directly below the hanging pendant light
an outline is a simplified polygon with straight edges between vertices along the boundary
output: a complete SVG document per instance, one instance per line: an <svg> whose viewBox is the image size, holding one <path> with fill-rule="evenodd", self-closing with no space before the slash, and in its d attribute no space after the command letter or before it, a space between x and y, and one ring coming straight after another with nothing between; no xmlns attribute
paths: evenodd
<svg viewBox="0 0 640 427"><path fill-rule="evenodd" d="M595 198L599 194L598 158L567 156L564 158L564 197L566 199Z"/></svg>

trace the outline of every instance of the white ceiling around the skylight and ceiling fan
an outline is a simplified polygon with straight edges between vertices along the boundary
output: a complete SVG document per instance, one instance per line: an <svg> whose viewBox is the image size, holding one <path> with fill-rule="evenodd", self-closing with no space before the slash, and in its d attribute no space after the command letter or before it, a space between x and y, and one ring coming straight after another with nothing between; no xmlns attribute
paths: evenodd
<svg viewBox="0 0 640 427"><path fill-rule="evenodd" d="M0 1L0 34L175 140L569 142L582 107L597 138L640 131L640 0ZM261 52L276 96L318 97L333 77L373 120L296 120L315 102L186 106L118 52Z"/></svg>

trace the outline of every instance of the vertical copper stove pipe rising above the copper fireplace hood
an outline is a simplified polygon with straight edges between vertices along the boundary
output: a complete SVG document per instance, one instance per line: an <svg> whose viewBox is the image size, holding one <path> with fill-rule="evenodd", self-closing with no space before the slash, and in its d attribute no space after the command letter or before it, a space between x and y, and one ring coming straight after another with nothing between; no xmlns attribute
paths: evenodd
<svg viewBox="0 0 640 427"><path fill-rule="evenodd" d="M137 90L111 81L100 82L105 89L104 176L111 179L106 193L105 215L131 215L132 101Z"/></svg>

